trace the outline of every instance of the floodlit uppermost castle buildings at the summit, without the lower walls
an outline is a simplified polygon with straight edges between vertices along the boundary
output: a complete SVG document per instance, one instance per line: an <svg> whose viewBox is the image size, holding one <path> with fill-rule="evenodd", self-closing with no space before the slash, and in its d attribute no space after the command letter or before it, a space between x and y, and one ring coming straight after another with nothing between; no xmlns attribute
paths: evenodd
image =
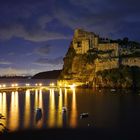
<svg viewBox="0 0 140 140"><path fill-rule="evenodd" d="M73 48L77 54L85 54L89 50L96 48L99 51L112 50L112 56L118 56L118 43L100 43L100 38L93 32L87 32L82 29L76 29L73 37Z"/></svg>

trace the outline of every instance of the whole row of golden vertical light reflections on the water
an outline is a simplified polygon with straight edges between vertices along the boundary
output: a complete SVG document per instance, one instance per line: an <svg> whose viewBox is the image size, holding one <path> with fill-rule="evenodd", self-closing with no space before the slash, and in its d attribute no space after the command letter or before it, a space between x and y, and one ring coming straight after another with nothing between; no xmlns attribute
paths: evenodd
<svg viewBox="0 0 140 140"><path fill-rule="evenodd" d="M76 97L75 97L75 89L72 91L72 115L70 116L70 123L72 127L76 126ZM7 103L7 96L10 98L10 101ZM22 96L22 98L19 98ZM46 110L44 110L44 102L45 99L43 96L49 96L47 102L49 102L49 106ZM34 99L33 99L33 98ZM20 100L19 100L20 99ZM21 101L22 100L22 101ZM32 104L32 102L34 102ZM7 108L7 104L9 108ZM19 105L20 104L20 105ZM34 107L31 107L31 106ZM34 91L26 90L24 93L18 93L17 91L13 91L11 93L0 93L0 113L5 116L6 119L1 122L6 126L10 131L18 130L19 128L27 129L27 128L42 128L46 125L46 127L53 128L63 127L63 123L66 125L66 115L62 112L62 107L67 107L67 89L59 89L59 91L54 91L54 89L50 89L49 93L42 93L41 89L35 89ZM24 108L23 110L23 119L20 117L20 107ZM37 118L36 109L41 108L41 116ZM33 109L33 110L32 110ZM44 114L47 114L47 117L44 118ZM8 116L7 116L8 114ZM33 124L31 123L33 120ZM21 122L23 121L23 122ZM21 126L23 123L23 126ZM43 124L46 123L46 124Z"/></svg>

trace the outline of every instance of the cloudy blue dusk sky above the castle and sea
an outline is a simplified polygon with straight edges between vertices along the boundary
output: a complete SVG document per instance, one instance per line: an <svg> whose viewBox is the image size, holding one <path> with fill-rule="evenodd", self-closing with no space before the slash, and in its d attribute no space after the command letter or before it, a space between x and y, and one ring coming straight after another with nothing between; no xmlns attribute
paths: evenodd
<svg viewBox="0 0 140 140"><path fill-rule="evenodd" d="M0 75L61 69L74 29L140 40L139 0L0 0Z"/></svg>

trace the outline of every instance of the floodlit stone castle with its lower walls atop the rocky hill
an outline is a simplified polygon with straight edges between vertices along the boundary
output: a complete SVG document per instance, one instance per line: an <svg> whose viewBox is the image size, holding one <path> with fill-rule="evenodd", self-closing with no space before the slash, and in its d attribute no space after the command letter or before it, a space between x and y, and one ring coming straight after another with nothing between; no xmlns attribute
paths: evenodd
<svg viewBox="0 0 140 140"><path fill-rule="evenodd" d="M95 71L118 68L121 64L140 66L140 60L137 58L120 60L122 46L119 43L111 43L109 39L100 38L93 32L76 29L72 46L76 54L87 54L90 50L91 52L92 50L98 52L98 58L94 62L96 66Z"/></svg>

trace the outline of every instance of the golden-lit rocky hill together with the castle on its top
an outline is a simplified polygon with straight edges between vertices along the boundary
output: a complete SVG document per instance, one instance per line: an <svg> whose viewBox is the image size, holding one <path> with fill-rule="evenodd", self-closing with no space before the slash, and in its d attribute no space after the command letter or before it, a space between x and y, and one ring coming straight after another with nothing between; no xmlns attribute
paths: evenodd
<svg viewBox="0 0 140 140"><path fill-rule="evenodd" d="M75 30L64 58L60 82L77 82L79 85L96 87L132 87L134 77L130 66L136 67L136 71L139 72L140 59L121 57L120 48L119 43L115 41L110 43L92 32ZM122 76L123 74L125 76Z"/></svg>

